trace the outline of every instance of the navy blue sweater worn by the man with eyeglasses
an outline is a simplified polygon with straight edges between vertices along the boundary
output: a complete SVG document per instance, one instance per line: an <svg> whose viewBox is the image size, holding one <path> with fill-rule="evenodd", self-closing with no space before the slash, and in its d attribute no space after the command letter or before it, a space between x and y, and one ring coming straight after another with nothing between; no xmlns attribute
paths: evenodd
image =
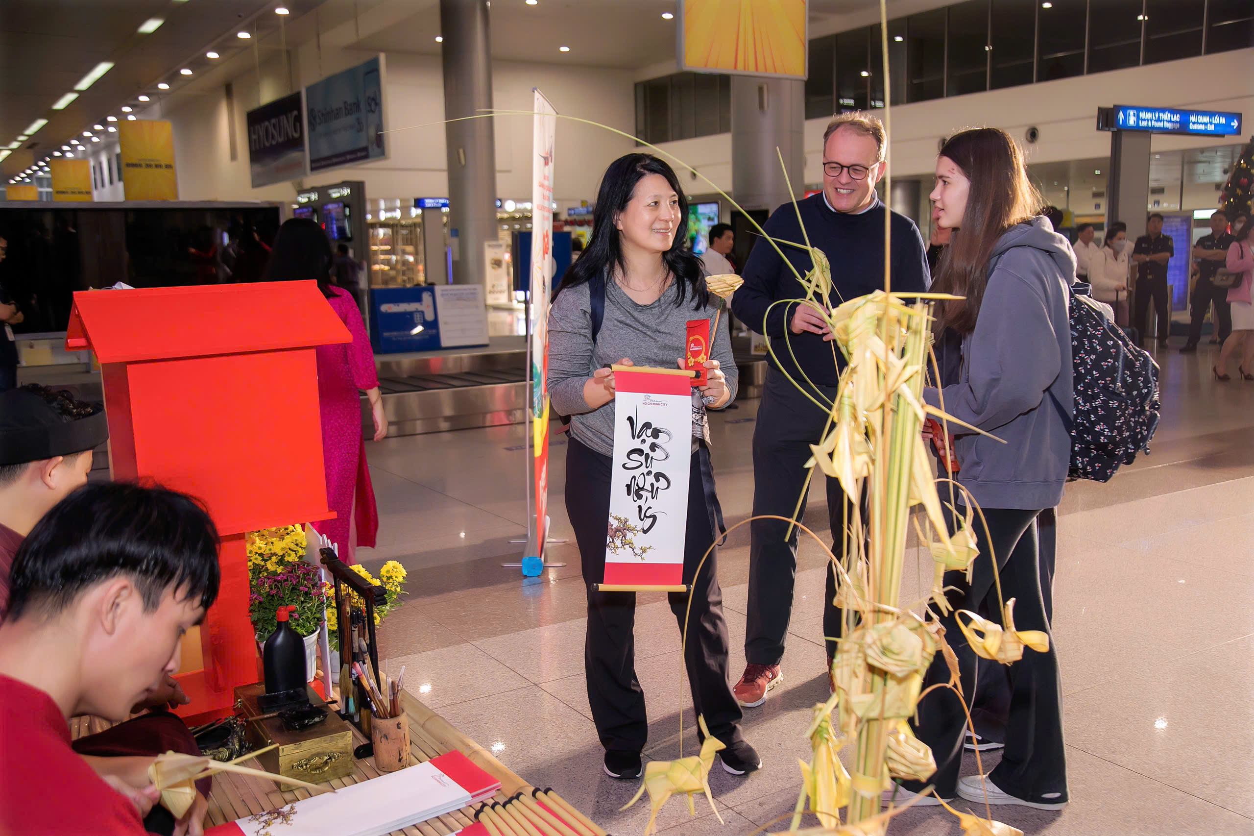
<svg viewBox="0 0 1254 836"><path fill-rule="evenodd" d="M799 201L798 207L801 210L810 245L821 250L831 262L831 305L884 289L884 203L877 200L861 215L845 215L830 210L823 192L819 192ZM919 227L898 212L893 212L892 223L893 291L922 292L928 286L928 257ZM764 228L772 238L805 244L791 203L775 210ZM804 250L786 245L780 245L780 249L803 276L813 269L810 256ZM742 277L745 284L731 297L731 310L749 328L771 338L771 350L782 364L781 370L799 383L803 382L793 363L791 354L795 354L800 370L810 380L821 387L836 385L839 368L844 368L844 356L839 349L835 353L838 368L831 362L833 346L823 341L823 336L788 330L795 305L771 308L771 303L777 300L805 296L801 282L788 269L775 247L762 240L754 244ZM774 360L771 365L780 368Z"/></svg>

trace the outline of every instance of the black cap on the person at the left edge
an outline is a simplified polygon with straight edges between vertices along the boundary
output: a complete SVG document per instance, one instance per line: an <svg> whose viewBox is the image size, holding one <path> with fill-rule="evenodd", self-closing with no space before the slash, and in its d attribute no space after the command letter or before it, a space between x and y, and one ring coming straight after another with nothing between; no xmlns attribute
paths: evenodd
<svg viewBox="0 0 1254 836"><path fill-rule="evenodd" d="M45 390L46 392L46 390ZM58 397L69 399L68 393ZM74 402L66 415L38 387L0 392L0 466L71 456L98 447L109 437L104 408Z"/></svg>

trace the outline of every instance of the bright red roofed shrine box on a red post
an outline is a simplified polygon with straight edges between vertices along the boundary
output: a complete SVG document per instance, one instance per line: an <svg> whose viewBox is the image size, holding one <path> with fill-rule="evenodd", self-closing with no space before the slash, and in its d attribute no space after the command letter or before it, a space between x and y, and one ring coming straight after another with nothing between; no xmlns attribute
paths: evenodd
<svg viewBox="0 0 1254 836"><path fill-rule="evenodd" d="M222 535L184 718L224 715L257 682L245 532L335 516L314 346L351 339L312 281L74 294L65 348L100 363L113 478L198 497Z"/></svg>

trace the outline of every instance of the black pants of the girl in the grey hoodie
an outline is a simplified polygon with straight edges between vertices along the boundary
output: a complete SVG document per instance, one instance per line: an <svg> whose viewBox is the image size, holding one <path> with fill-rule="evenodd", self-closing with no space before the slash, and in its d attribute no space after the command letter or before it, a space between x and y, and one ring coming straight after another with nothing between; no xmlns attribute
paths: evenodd
<svg viewBox="0 0 1254 836"><path fill-rule="evenodd" d="M976 559L971 584L962 572L946 575L946 584L958 589L949 595L954 609L997 613L999 609L993 580L992 560L997 556L1002 595L1014 603L1014 626L1020 630L1042 630L1050 634L1037 564L1036 517L1040 511L984 508L988 532L981 537L981 555ZM977 522L977 533L979 523ZM997 616L994 620L1001 621ZM976 688L977 659L958 629L954 614L940 618L946 639L958 656L963 693L968 700L979 698ZM979 659L979 664L992 664ZM1058 680L1058 656L1050 636L1050 649L1037 653L1023 650L1023 658L1008 667L1011 682L1009 718L1006 726L1006 749L1001 763L989 778L1003 791L1037 802L1067 801L1066 753L1062 742L1062 689ZM949 669L940 653L933 659L925 684L949 680ZM928 783L935 785L942 798L957 792L958 768L962 764L962 742L967 717L958 697L949 689L937 689L919 703L917 734L932 747L937 772ZM903 782L918 792L919 782Z"/></svg>

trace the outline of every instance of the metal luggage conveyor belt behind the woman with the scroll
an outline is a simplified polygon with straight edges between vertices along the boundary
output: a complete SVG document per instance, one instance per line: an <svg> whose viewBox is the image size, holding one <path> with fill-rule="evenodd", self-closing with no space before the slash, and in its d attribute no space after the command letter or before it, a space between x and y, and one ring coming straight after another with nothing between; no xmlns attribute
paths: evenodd
<svg viewBox="0 0 1254 836"><path fill-rule="evenodd" d="M756 398L766 362L737 353L739 398ZM389 436L500 427L527 415L527 351L505 350L404 359L379 358L379 389ZM370 404L361 399L362 428L374 432Z"/></svg>

